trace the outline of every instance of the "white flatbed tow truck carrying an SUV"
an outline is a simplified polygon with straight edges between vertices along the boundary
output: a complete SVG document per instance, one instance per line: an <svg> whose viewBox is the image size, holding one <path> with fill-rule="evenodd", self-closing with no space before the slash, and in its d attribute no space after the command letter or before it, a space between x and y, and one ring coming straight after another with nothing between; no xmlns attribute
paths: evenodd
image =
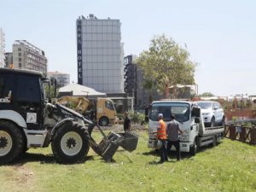
<svg viewBox="0 0 256 192"><path fill-rule="evenodd" d="M158 114L163 113L168 124L173 114L183 130L180 135L181 152L195 155L198 148L216 144L224 137L224 126L206 127L201 114L201 108L195 102L164 100L152 102L146 110L148 120L148 148L157 149L156 131ZM174 148L172 147L172 150Z"/></svg>

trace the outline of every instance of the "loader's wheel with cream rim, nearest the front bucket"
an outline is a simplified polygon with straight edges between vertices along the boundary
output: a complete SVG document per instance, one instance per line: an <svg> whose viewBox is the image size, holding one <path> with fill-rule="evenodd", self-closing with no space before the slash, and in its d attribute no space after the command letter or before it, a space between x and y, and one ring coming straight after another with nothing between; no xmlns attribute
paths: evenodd
<svg viewBox="0 0 256 192"><path fill-rule="evenodd" d="M89 134L82 125L68 122L55 131L51 148L58 162L84 162L89 151Z"/></svg>

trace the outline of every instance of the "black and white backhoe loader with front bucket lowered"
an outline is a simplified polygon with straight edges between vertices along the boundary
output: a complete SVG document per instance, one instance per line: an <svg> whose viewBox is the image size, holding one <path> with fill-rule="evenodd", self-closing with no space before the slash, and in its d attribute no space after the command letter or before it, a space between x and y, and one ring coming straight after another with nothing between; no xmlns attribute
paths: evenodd
<svg viewBox="0 0 256 192"><path fill-rule="evenodd" d="M101 127L61 104L51 104L42 73L0 68L0 164L6 164L28 148L51 144L55 159L63 164L83 162L91 147L104 160L111 160L117 148L133 151L138 136L131 132L104 134ZM96 143L91 131L102 132Z"/></svg>

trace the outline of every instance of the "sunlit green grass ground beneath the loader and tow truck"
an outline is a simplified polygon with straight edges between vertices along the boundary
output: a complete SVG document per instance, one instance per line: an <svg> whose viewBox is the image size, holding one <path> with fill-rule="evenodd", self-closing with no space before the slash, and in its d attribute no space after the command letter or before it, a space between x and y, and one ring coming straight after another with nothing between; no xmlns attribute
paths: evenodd
<svg viewBox="0 0 256 192"><path fill-rule="evenodd" d="M99 133L95 133L100 137ZM139 131L137 150L122 148L106 163L90 150L83 164L59 165L50 148L29 149L15 164L0 166L0 191L255 191L256 147L224 139L195 157L157 164Z"/></svg>

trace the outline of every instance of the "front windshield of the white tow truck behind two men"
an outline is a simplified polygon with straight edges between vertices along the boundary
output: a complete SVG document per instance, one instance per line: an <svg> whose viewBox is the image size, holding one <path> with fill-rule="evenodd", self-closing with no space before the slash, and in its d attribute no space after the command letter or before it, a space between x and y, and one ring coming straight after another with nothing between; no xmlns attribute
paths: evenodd
<svg viewBox="0 0 256 192"><path fill-rule="evenodd" d="M149 108L149 119L157 121L159 113L163 113L165 121L170 121L171 114L173 114L177 121L184 122L189 120L189 104L179 102L154 103L152 108Z"/></svg>

